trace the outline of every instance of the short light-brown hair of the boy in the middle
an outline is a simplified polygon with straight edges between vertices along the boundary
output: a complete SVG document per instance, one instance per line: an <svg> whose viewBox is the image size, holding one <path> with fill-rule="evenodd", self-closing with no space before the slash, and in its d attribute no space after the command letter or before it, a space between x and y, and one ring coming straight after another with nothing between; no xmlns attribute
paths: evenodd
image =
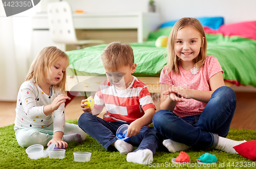
<svg viewBox="0 0 256 169"><path fill-rule="evenodd" d="M103 66L106 70L115 71L127 64L134 64L133 49L129 44L112 42L107 45L101 55Z"/></svg>

